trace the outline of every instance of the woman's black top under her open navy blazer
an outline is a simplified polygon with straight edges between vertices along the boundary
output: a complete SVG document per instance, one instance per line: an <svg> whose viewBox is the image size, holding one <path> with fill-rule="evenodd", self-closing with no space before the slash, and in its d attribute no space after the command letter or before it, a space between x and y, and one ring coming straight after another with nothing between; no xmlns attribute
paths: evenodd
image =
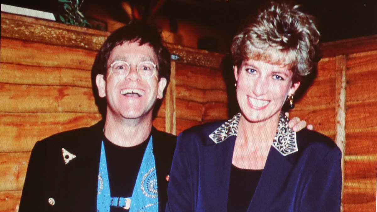
<svg viewBox="0 0 377 212"><path fill-rule="evenodd" d="M240 169L232 164L230 169L228 212L246 211L262 175L262 170Z"/></svg>

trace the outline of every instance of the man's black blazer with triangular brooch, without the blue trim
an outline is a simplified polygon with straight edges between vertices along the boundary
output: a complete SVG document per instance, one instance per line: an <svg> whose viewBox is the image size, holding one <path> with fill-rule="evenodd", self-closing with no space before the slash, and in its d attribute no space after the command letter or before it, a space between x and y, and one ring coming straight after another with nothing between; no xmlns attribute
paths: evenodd
<svg viewBox="0 0 377 212"><path fill-rule="evenodd" d="M23 187L20 212L97 210L98 166L104 121L61 132L35 143ZM152 128L159 211L167 201L167 180L176 136ZM76 157L64 163L62 148Z"/></svg>

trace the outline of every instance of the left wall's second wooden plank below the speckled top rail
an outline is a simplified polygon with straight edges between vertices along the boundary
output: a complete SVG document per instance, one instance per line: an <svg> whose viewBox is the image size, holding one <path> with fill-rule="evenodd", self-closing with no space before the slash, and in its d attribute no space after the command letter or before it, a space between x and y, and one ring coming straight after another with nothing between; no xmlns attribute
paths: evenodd
<svg viewBox="0 0 377 212"><path fill-rule="evenodd" d="M90 71L1 63L0 83L92 88Z"/></svg>

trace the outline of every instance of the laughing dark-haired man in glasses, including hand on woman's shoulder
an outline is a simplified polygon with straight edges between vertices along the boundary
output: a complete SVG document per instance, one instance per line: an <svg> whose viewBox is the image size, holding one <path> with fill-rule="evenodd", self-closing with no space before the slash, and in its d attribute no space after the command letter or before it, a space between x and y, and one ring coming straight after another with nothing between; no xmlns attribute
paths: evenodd
<svg viewBox="0 0 377 212"><path fill-rule="evenodd" d="M35 144L19 211L164 211L176 136L152 126L170 81L158 30L114 31L91 79L103 120Z"/></svg>

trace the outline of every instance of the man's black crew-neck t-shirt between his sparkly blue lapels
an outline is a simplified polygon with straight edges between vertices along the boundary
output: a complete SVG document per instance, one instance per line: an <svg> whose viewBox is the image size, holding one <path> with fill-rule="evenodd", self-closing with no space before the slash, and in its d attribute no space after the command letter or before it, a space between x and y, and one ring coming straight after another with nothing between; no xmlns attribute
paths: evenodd
<svg viewBox="0 0 377 212"><path fill-rule="evenodd" d="M104 139L107 172L109 174L111 197L131 197L141 161L150 137L132 147L122 147ZM120 207L110 207L111 212L128 211Z"/></svg>

